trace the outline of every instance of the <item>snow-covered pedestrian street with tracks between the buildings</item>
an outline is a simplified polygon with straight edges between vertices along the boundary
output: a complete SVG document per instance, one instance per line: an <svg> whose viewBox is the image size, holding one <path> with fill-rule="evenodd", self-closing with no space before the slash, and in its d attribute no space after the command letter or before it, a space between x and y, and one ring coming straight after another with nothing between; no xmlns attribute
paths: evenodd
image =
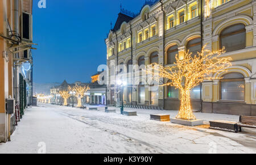
<svg viewBox="0 0 256 165"><path fill-rule="evenodd" d="M28 108L12 141L0 153L256 153L256 130L243 133L150 120L177 111L137 109L138 116L50 104ZM238 116L195 113L198 119L238 121Z"/></svg>

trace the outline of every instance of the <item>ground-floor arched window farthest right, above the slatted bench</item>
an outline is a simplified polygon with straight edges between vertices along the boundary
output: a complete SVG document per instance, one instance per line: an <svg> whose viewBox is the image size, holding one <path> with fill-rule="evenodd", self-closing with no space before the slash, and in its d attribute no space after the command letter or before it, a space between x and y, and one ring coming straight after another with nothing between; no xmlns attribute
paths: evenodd
<svg viewBox="0 0 256 165"><path fill-rule="evenodd" d="M245 77L241 73L225 74L220 82L221 100L244 101Z"/></svg>

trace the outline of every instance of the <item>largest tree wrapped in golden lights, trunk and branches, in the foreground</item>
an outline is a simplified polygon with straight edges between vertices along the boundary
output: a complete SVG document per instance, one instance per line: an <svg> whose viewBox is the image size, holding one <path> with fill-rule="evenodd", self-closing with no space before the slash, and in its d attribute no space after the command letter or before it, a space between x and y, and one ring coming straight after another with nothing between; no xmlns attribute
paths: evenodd
<svg viewBox="0 0 256 165"><path fill-rule="evenodd" d="M205 50L204 46L201 53L198 52L195 56L186 52L184 58L179 59L176 55L176 63L172 67L154 65L147 68L148 74L171 81L162 86L174 86L180 90L181 103L177 119L196 120L191 107L191 90L205 80L221 79L211 75L220 70L225 71L232 66L230 63L232 58L220 57L223 53L225 53L225 48L210 52L210 50Z"/></svg>

